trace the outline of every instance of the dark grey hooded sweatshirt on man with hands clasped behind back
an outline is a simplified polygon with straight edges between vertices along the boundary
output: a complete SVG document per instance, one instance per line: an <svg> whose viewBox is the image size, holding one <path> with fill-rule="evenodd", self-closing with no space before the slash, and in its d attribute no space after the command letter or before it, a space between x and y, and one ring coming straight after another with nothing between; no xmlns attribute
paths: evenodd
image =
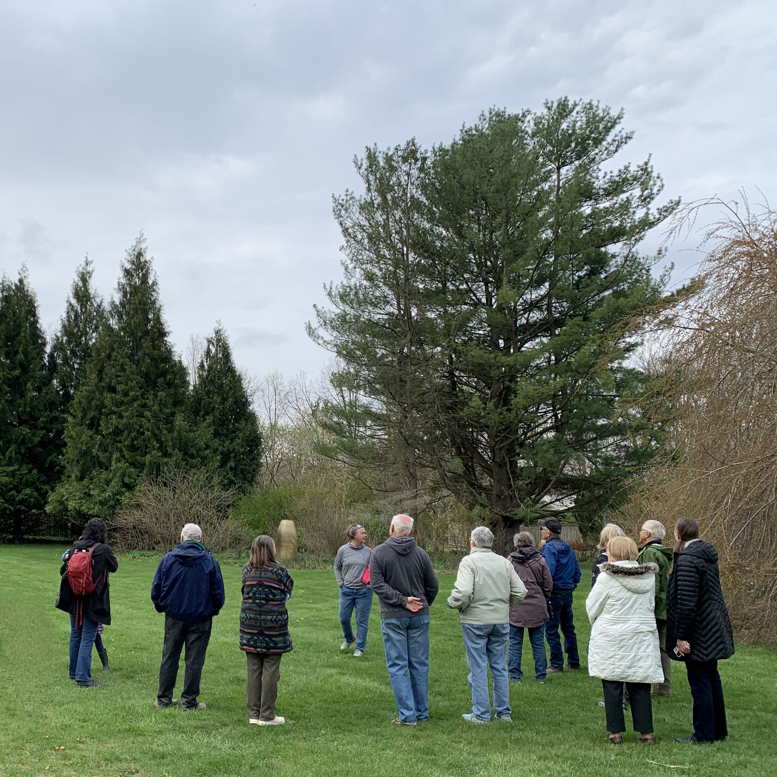
<svg viewBox="0 0 777 777"><path fill-rule="evenodd" d="M412 537L389 537L372 552L370 587L381 603L381 618L412 618L428 615L439 590L437 575L427 552ZM410 612L407 598L415 596L423 609Z"/></svg>

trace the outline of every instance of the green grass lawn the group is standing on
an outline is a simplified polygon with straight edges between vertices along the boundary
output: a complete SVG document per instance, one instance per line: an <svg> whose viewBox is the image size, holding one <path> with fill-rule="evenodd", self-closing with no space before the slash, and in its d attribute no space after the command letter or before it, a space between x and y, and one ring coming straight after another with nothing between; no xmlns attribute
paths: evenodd
<svg viewBox="0 0 777 777"><path fill-rule="evenodd" d="M458 613L444 603L451 575L441 576L431 610L431 720L423 726L390 723L396 709L377 600L367 654L340 654L331 572L292 573L294 652L281 664L278 695L286 726L248 725L246 660L237 642L239 566L223 567L227 604L214 619L200 695L207 711L155 708L164 617L148 598L155 559L119 559L111 577L113 625L103 635L113 671L95 673L102 688L78 689L68 680L68 616L54 608L62 550L0 545L0 775L777 773L777 654L762 648L741 647L721 664L731 735L714 746L674 744L691 730L680 665L672 698L653 704L657 747L636 743L632 732L614 747L604 741L600 681L585 671L566 672L538 685L528 640L524 681L510 685L513 723L465 723L469 688ZM581 647L588 637L587 586L584 574L576 597ZM92 666L99 668L96 653Z"/></svg>

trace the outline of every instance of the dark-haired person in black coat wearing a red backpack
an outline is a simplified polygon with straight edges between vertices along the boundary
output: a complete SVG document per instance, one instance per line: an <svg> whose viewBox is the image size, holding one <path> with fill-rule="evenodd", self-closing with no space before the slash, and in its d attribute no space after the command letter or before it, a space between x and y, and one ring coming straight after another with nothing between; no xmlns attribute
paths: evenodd
<svg viewBox="0 0 777 777"><path fill-rule="evenodd" d="M81 538L65 554L57 608L70 613L70 678L79 688L93 688L92 646L99 624L110 625L108 574L119 563L106 545L106 525L92 518Z"/></svg>

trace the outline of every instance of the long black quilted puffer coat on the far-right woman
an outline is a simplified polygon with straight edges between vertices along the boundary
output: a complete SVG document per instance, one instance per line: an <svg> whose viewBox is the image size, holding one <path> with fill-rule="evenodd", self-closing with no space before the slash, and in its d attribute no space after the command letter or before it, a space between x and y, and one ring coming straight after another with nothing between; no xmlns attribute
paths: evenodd
<svg viewBox="0 0 777 777"><path fill-rule="evenodd" d="M689 656L678 659L674 646L683 639ZM667 653L674 660L716 661L733 656L733 632L723 591L718 552L703 540L674 554L667 584Z"/></svg>

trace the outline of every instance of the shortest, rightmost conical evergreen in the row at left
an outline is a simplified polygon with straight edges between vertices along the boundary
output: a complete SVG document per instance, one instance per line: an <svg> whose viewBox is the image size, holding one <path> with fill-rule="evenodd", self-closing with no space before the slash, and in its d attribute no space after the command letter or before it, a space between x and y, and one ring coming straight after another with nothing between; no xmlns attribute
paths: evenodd
<svg viewBox="0 0 777 777"><path fill-rule="evenodd" d="M206 340L192 389L192 412L207 434L221 483L249 490L259 474L262 437L259 420L221 326Z"/></svg>

